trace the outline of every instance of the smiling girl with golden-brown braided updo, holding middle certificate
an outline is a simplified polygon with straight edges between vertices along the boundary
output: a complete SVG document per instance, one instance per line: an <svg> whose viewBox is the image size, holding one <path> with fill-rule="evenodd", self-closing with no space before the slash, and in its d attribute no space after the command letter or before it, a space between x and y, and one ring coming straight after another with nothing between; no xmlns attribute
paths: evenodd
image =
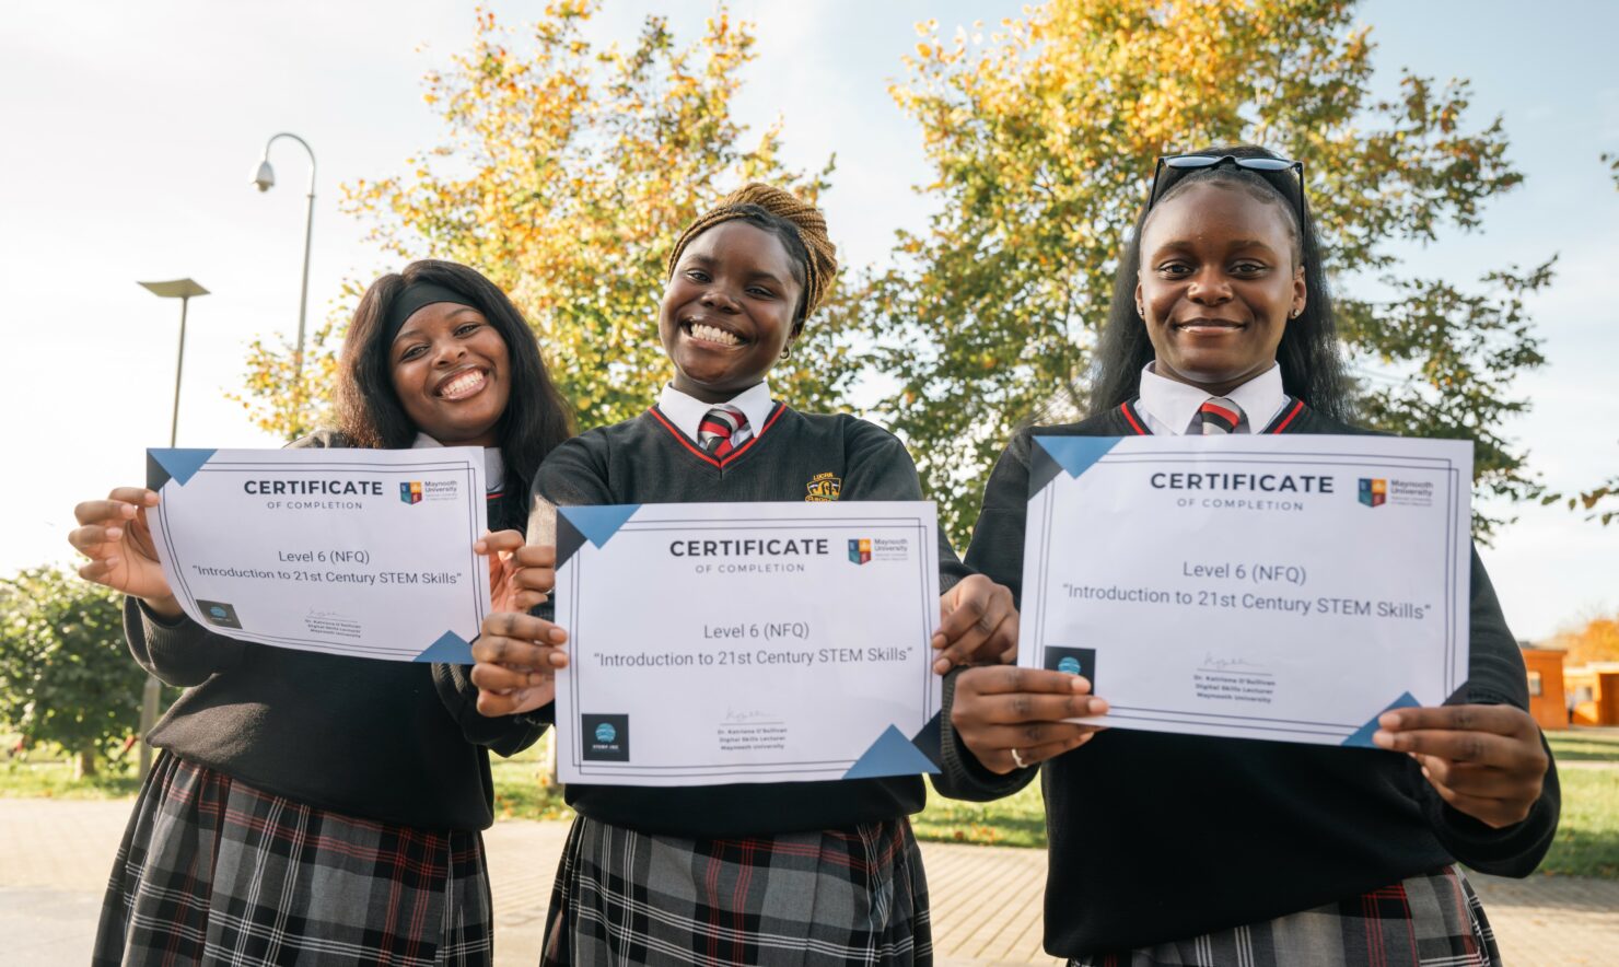
<svg viewBox="0 0 1619 967"><path fill-rule="evenodd" d="M766 376L837 272L826 220L748 185L675 243L657 319L674 381L641 416L559 447L534 478L531 543L555 507L698 501L916 501L905 447L848 415L800 413ZM818 481L839 479L839 488ZM941 535L936 669L1015 641L1010 594L967 575ZM549 570L528 569L547 590ZM538 577L536 577L538 575ZM806 593L813 593L806 590ZM492 616L474 645L479 708L549 714L560 628ZM907 816L918 776L691 787L570 786L544 964L929 964L926 880Z"/></svg>

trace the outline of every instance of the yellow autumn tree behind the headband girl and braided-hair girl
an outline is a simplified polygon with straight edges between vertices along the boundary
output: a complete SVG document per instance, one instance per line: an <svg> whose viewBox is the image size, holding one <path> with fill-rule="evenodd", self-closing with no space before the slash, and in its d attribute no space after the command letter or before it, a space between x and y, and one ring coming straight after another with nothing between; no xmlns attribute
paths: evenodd
<svg viewBox="0 0 1619 967"><path fill-rule="evenodd" d="M471 47L426 76L444 139L405 173L343 190L345 209L390 254L465 262L502 287L583 426L640 413L669 377L656 313L680 230L746 180L813 199L832 170L784 168L779 125L750 141L732 118L754 39L724 6L690 45L662 16L646 18L633 44L597 45L584 31L597 10L559 0L525 29L479 11ZM780 395L839 407L855 373L848 317L811 322L772 377ZM312 358L329 358L337 334ZM314 413L287 415L288 358L287 347L256 347L248 402L261 424L291 434ZM312 405L327 387L306 387Z"/></svg>

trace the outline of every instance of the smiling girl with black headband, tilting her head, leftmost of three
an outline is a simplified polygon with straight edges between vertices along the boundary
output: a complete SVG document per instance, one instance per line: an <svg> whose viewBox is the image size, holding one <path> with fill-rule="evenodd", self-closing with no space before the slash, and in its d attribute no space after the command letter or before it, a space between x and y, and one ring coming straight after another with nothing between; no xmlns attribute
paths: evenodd
<svg viewBox="0 0 1619 967"><path fill-rule="evenodd" d="M541 458L568 437L534 334L487 279L421 261L377 279L343 340L337 426L293 447L484 447L497 606L533 549ZM489 748L542 726L484 718L468 669L236 641L185 617L146 510L115 489L76 509L79 573L128 594L136 661L186 692L125 831L96 964L492 962L481 829ZM222 539L230 539L228 535Z"/></svg>

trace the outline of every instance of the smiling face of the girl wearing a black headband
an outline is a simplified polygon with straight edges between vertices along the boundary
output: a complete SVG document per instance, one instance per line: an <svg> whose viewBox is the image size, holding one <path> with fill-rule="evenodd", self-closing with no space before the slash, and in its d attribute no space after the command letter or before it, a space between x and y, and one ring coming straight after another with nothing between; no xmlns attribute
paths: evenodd
<svg viewBox="0 0 1619 967"><path fill-rule="evenodd" d="M447 447L497 444L512 384L505 340L482 313L423 306L393 337L389 360L393 392L416 429Z"/></svg>

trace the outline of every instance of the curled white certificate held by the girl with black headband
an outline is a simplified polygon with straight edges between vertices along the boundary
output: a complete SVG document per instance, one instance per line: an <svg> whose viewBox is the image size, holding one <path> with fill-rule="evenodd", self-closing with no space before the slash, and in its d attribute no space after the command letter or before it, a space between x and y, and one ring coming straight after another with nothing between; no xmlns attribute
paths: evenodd
<svg viewBox="0 0 1619 967"><path fill-rule="evenodd" d="M152 538L193 620L261 645L471 662L481 447L147 450Z"/></svg>

